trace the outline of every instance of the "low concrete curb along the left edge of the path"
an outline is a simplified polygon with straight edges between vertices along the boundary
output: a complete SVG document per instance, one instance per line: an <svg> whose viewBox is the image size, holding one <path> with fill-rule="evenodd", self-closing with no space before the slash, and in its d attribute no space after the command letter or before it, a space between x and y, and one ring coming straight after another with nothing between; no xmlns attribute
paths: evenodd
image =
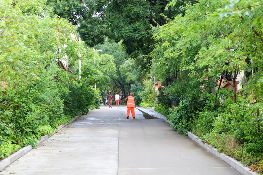
<svg viewBox="0 0 263 175"><path fill-rule="evenodd" d="M62 129L63 127L65 127L66 125L72 123L75 119L77 119L78 117L80 117L81 115L76 116L75 118L72 118L68 123L62 124L60 126L58 126L57 130L54 131L54 133L52 135L45 135L42 136L41 140L38 140L36 145L38 145L39 143L42 143L43 141L47 140L48 138L50 138L51 136L53 136L56 132L58 132L60 129ZM19 149L17 152L13 153L12 155L10 155L9 157L3 159L2 161L0 161L0 172L3 171L7 166L11 165L14 161L16 161L17 159L19 159L20 157L22 157L23 155L25 155L27 152L29 152L30 150L32 150L32 146L26 146L24 148Z"/></svg>

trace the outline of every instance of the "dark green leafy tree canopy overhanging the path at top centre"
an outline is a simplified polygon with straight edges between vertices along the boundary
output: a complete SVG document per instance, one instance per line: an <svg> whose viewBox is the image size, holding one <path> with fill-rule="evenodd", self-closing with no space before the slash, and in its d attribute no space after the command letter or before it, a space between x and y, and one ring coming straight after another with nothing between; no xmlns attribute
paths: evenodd
<svg viewBox="0 0 263 175"><path fill-rule="evenodd" d="M166 8L169 0L47 0L60 17L79 24L78 31L88 46L103 43L105 36L125 45L137 67L149 68L147 56L154 44L151 27L164 25L166 18L183 13L180 6L196 0L180 0ZM163 16L164 15L164 16Z"/></svg>

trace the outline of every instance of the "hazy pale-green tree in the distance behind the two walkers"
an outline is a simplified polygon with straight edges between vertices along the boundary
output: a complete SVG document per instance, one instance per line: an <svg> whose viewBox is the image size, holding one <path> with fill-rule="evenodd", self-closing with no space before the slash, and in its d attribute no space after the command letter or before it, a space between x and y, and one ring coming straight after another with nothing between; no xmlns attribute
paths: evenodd
<svg viewBox="0 0 263 175"><path fill-rule="evenodd" d="M99 52L99 57L110 54L112 58L114 58L114 72L110 73L105 71L106 76L102 79L102 82L98 84L101 95L103 95L106 90L111 90L112 93L122 92L126 97L130 91L131 84L140 79L140 73L134 69L134 61L128 59L128 55L125 53L121 43L106 40L105 44L96 45L95 48L102 50L102 52ZM102 69L108 70L110 64L107 59L102 58L100 66ZM101 68L99 67L99 69Z"/></svg>

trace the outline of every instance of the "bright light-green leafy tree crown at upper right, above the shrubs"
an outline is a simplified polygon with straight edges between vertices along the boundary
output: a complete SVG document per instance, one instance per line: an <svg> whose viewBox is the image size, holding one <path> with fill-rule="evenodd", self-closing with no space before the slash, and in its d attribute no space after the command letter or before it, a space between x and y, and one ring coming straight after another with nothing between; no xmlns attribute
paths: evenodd
<svg viewBox="0 0 263 175"><path fill-rule="evenodd" d="M257 0L200 0L189 5L184 17L156 28L156 71L163 78L187 71L200 81L222 76L232 87L240 70L257 70L262 76L262 8ZM255 85L260 81L255 80Z"/></svg>

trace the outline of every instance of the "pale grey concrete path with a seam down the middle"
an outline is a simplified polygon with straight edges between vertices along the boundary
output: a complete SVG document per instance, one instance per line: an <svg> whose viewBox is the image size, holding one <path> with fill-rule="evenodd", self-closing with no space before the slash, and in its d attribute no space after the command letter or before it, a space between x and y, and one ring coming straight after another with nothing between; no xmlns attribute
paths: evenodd
<svg viewBox="0 0 263 175"><path fill-rule="evenodd" d="M0 175L241 175L163 119L126 119L126 107L90 111Z"/></svg>

